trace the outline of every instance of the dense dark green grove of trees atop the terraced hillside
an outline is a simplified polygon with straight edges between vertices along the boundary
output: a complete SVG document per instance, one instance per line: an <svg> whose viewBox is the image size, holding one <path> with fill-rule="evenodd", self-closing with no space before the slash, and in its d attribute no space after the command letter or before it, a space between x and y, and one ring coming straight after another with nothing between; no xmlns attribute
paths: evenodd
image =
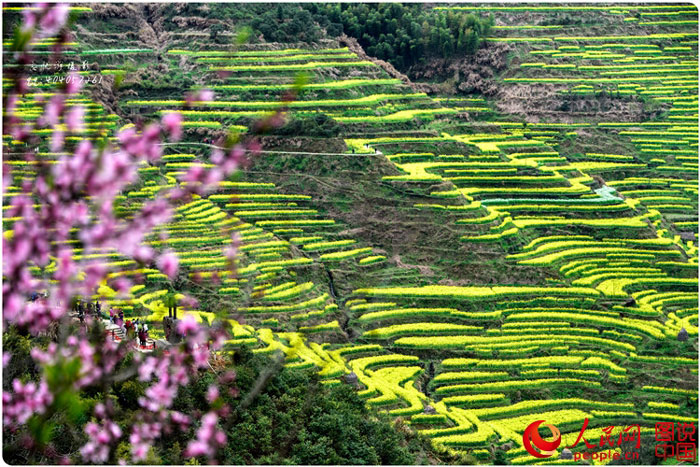
<svg viewBox="0 0 700 467"><path fill-rule="evenodd" d="M458 11L436 11L423 4L328 3L212 5L212 18L248 21L254 36L268 42L317 42L343 33L357 39L372 57L399 69L426 57L449 58L473 54L493 25L484 18ZM213 28L219 37L221 27Z"/></svg>

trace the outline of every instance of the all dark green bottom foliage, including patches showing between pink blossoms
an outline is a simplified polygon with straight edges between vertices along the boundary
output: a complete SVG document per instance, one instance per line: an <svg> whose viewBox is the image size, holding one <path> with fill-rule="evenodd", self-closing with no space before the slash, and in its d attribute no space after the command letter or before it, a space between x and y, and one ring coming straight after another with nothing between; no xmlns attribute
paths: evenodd
<svg viewBox="0 0 700 467"><path fill-rule="evenodd" d="M36 340L36 339L34 339ZM16 361L29 362L31 339L10 329L4 334L5 349L13 353ZM35 344L47 345L41 338ZM117 372L132 364L131 358L121 362ZM229 393L222 398L231 408L228 417L221 421L228 443L220 452L222 464L414 464L427 462L427 456L435 456L429 442L408 430L396 430L387 415L371 413L364 401L349 385L333 388L319 382L313 370L288 368L272 370L275 365L267 358L240 350L225 357L225 365L233 369L236 379ZM9 381L19 377L24 381L35 380L34 365L12 365L4 370L4 389ZM255 391L260 374L272 373L262 390ZM193 415L209 410L207 389L216 383L212 372L196 375L188 386L178 393L173 408ZM114 404L114 420L126 429L139 407L138 399L144 396L146 383L137 377L118 381L107 388ZM79 425L87 422L87 414L105 388L93 388L76 395L73 406ZM252 402L245 405L251 395ZM47 442L55 452L71 456L84 442L86 435L71 428L69 423L52 420ZM182 454L190 431L173 431L165 439L157 441L149 453L149 464L184 464ZM114 459L128 458L130 445L122 441ZM10 464L26 464L47 461L35 457L32 450L22 445L22 433L14 433L3 443L3 458ZM79 459L73 459L78 461Z"/></svg>

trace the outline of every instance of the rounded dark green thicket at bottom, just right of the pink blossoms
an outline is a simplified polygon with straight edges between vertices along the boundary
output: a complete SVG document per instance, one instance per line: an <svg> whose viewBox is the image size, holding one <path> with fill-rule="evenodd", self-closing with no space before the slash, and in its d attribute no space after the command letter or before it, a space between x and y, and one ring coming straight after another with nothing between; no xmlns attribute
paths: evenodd
<svg viewBox="0 0 700 467"><path fill-rule="evenodd" d="M237 373L245 393L261 366L269 363L247 356L242 360ZM227 430L225 464L424 461L416 456L422 449L418 439L405 438L387 418L371 414L350 386L328 389L313 371L282 370L235 418Z"/></svg>

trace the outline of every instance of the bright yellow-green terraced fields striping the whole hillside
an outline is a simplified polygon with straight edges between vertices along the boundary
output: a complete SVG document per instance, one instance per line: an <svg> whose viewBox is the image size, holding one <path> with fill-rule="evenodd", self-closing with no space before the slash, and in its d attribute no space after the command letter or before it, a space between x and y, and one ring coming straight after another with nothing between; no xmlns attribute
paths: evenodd
<svg viewBox="0 0 700 467"><path fill-rule="evenodd" d="M233 329L228 350L281 351L287 365L317 368L328 385L353 374L369 406L485 463L508 443L508 463L562 463L523 448L534 420L555 424L562 447L576 441L585 419L589 440L610 425L639 424L653 440L657 421L697 423L697 10L591 5L585 8L598 8L601 18L592 28L554 24L565 6L439 8L495 16L489 41L512 47L511 65L497 78L503 95L609 96L646 108L648 118L575 109L530 118L507 112L498 97L429 95L341 43L234 49L174 36L157 52L128 42L91 50L78 36L69 52L76 61L89 56L105 78L148 67L157 55L197 75L193 90L216 95L182 112L185 141L139 170L139 182L121 196L123 215L181 183L185 169L211 164L207 145L196 142L202 134L246 131L305 72L308 84L287 104L289 117L331 117L346 148L307 157L389 171L332 173L326 181L364 177L404 196L391 208L393 220L432 219L435 241L406 248L434 248L435 262L403 264L393 244L371 243L334 215L352 205L281 183L298 178L294 186L303 188L303 170L280 174L258 165L281 157L263 150L249 173L181 205L148 239L176 252L185 271L180 284L202 298L199 309L183 304L180 313L200 322L223 313ZM24 118L38 113L51 87L18 102ZM128 124L87 93L69 104L83 105L88 122L69 140L114 138ZM181 92L144 92L118 110L149 118L184 104ZM48 146L37 165L62 156ZM34 168L12 154L5 159L19 192ZM5 236L14 220L3 216ZM231 244L239 252L235 274L221 254ZM478 270L441 275L441 258L470 256L517 275L507 282ZM158 336L167 277L113 251L100 258L119 269L115 276L143 276L128 299L111 298L106 284L99 294L127 316L145 317ZM687 341L678 339L682 329Z"/></svg>

